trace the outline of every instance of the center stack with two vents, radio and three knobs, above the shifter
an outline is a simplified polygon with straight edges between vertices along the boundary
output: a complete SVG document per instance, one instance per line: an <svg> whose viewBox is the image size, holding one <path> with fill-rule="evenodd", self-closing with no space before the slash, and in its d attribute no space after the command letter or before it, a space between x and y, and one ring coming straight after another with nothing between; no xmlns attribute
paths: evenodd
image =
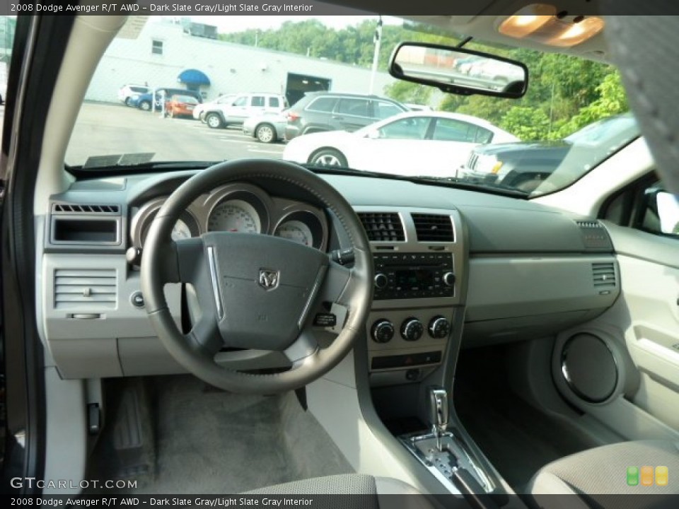
<svg viewBox="0 0 679 509"><path fill-rule="evenodd" d="M455 209L354 209L375 265L366 325L371 384L419 382L443 361L464 302L462 219Z"/></svg>

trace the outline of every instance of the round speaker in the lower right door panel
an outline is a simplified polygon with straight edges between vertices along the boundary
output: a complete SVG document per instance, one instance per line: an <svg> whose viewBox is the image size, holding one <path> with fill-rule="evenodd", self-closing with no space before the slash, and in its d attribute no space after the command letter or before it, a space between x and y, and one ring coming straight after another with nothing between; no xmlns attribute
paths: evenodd
<svg viewBox="0 0 679 509"><path fill-rule="evenodd" d="M617 386L613 351L603 339L585 332L569 337L564 343L561 373L570 389L590 403L605 402Z"/></svg>

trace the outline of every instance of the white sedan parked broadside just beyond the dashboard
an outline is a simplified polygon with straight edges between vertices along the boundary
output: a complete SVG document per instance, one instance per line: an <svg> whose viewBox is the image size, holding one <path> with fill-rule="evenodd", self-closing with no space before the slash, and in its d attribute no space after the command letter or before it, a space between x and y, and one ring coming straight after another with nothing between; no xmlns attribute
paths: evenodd
<svg viewBox="0 0 679 509"><path fill-rule="evenodd" d="M448 112L405 112L358 131L298 136L285 160L400 175L454 177L475 146L519 141L490 122Z"/></svg>

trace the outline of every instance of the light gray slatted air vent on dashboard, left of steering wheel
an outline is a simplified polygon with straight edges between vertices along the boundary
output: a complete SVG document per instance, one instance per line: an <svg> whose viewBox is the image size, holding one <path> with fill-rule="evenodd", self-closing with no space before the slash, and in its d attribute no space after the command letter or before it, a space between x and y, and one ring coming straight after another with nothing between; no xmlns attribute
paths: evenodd
<svg viewBox="0 0 679 509"><path fill-rule="evenodd" d="M115 308L115 269L56 269L55 309Z"/></svg>

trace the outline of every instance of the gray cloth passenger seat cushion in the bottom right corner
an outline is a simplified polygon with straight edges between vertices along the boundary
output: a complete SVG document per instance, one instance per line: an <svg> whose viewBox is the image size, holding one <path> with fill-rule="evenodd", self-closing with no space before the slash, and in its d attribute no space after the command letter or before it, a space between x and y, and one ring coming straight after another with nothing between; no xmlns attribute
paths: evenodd
<svg viewBox="0 0 679 509"><path fill-rule="evenodd" d="M636 486L627 484L627 468L667 467L668 485ZM608 507L611 495L653 495L650 498L626 497L617 507L663 507L658 496L679 493L679 444L663 440L622 442L578 452L542 467L528 483L526 491L545 508ZM654 479L655 480L655 479ZM547 495L574 495L567 498ZM608 496L608 497L607 497ZM627 502L626 502L627 501ZM673 498L676 503L676 498ZM647 505L642 505L646 503ZM559 505L562 504L562 505ZM629 505L628 505L629 504Z"/></svg>

